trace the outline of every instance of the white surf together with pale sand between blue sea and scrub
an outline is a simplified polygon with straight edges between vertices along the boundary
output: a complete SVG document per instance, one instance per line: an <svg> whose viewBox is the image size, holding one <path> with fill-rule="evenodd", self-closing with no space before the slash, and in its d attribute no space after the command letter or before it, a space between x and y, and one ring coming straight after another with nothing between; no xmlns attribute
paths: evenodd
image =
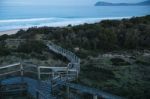
<svg viewBox="0 0 150 99"><path fill-rule="evenodd" d="M100 22L102 20L120 20L123 18L131 18L131 17L110 17L110 18L74 18L74 19L54 19L54 20L59 20L56 22L51 22L50 18L40 18L40 19L22 19L22 20L1 20L0 24L13 24L15 25L18 22L18 26L11 26L9 27L9 25L7 25L7 27L2 26L0 27L0 35L11 35L11 34L15 34L17 33L20 29L23 30L27 30L28 28L31 27L44 27L44 26L49 26L49 27L65 27L68 25L72 25L72 26L76 26L76 25L81 25L81 24L85 24L85 23L89 23L89 24L93 24L93 23L97 23ZM27 23L29 22L29 24L27 25ZM26 25L24 26L23 23L26 23ZM36 25L31 25L31 24L35 24ZM38 25L37 25L38 23Z"/></svg>

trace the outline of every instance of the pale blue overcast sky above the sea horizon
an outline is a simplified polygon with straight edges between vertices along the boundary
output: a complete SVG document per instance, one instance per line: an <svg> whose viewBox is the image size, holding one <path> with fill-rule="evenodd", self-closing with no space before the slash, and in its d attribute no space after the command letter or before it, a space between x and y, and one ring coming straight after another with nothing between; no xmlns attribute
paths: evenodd
<svg viewBox="0 0 150 99"><path fill-rule="evenodd" d="M0 5L93 5L97 1L134 3L145 0L0 0Z"/></svg>

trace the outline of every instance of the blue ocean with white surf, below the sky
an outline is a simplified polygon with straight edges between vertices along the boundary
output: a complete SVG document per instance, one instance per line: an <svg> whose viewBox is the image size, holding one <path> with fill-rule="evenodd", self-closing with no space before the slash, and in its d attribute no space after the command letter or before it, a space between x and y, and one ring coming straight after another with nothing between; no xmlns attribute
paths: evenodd
<svg viewBox="0 0 150 99"><path fill-rule="evenodd" d="M0 4L0 31L94 23L150 14L150 6L8 6Z"/></svg>

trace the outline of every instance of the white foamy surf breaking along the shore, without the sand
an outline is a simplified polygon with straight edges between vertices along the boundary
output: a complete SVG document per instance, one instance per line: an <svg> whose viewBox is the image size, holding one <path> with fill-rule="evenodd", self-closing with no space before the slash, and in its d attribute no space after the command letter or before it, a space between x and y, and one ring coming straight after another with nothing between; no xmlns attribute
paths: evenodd
<svg viewBox="0 0 150 99"><path fill-rule="evenodd" d="M123 19L130 17L105 17L105 18L30 18L30 19L12 19L0 20L0 31L29 28L29 27L62 27L71 25L79 25L84 23L95 23L101 20Z"/></svg>

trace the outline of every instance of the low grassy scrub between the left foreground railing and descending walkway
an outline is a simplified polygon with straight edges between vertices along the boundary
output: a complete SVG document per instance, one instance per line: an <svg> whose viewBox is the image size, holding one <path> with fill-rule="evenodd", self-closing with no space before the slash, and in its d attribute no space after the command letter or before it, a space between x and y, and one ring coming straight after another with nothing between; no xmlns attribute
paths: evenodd
<svg viewBox="0 0 150 99"><path fill-rule="evenodd" d="M20 61L45 66L65 66L67 63L61 55L50 53L43 41L8 38L0 43L0 65Z"/></svg>

